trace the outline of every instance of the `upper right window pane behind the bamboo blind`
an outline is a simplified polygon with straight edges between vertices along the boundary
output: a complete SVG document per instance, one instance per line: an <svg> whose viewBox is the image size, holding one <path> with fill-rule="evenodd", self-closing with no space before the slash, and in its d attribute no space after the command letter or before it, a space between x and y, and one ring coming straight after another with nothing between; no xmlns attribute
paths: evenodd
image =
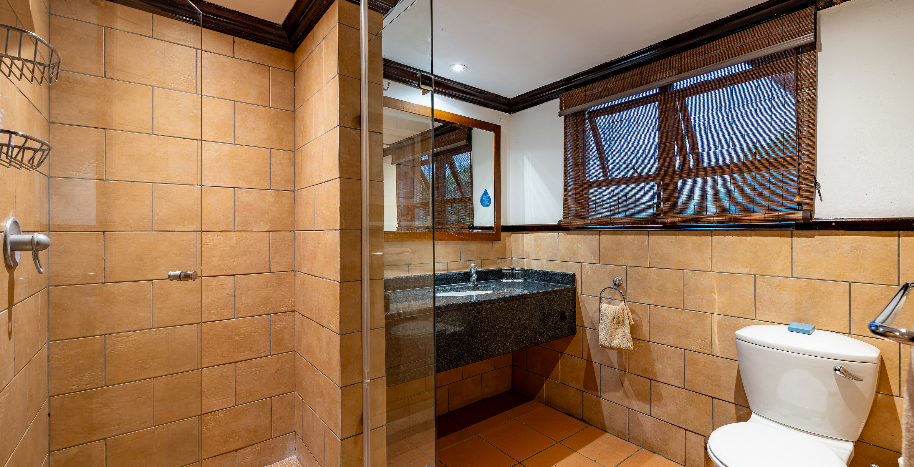
<svg viewBox="0 0 914 467"><path fill-rule="evenodd" d="M796 154L793 73L687 98L702 165Z"/></svg>

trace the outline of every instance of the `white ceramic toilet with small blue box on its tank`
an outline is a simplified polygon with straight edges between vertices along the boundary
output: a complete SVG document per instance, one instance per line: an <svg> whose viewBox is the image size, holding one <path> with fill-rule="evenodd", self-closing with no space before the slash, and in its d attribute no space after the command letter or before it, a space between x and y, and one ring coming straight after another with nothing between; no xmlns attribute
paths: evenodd
<svg viewBox="0 0 914 467"><path fill-rule="evenodd" d="M714 465L851 462L876 395L877 347L844 334L792 333L784 325L760 324L737 331L737 356L752 416L711 433L707 453Z"/></svg>

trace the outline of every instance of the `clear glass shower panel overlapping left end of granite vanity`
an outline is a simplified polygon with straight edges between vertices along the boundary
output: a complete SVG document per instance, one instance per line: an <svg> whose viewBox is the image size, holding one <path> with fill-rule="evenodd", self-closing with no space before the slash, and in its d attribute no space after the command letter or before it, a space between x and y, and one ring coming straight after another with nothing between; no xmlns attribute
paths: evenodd
<svg viewBox="0 0 914 467"><path fill-rule="evenodd" d="M432 0L400 2L369 44L384 62L384 241L373 253L384 263L386 350L371 357L385 360L389 467L435 465L434 122L409 111L433 105L431 12Z"/></svg>

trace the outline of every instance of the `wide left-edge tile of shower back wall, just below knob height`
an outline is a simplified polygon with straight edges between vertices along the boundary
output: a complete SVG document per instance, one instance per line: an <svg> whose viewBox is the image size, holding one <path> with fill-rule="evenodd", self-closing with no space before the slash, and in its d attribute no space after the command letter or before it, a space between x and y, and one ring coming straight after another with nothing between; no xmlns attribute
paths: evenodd
<svg viewBox="0 0 914 467"><path fill-rule="evenodd" d="M149 282L52 287L48 300L50 340L136 331L152 326Z"/></svg>

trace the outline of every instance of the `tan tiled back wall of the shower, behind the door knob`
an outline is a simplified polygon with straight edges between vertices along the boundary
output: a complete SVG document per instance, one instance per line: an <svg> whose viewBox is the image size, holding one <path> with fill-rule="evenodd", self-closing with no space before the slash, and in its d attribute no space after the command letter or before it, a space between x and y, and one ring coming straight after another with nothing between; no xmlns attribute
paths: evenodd
<svg viewBox="0 0 914 467"><path fill-rule="evenodd" d="M291 456L292 53L50 8L50 464Z"/></svg>

